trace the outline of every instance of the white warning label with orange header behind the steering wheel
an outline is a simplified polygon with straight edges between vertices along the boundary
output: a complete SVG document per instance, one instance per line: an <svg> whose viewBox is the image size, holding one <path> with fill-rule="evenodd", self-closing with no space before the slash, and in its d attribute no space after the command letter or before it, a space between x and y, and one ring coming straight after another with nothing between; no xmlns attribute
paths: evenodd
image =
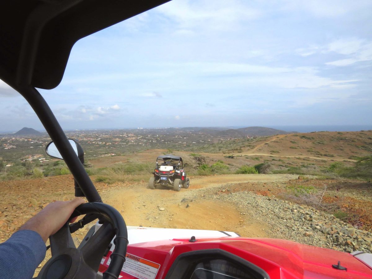
<svg viewBox="0 0 372 279"><path fill-rule="evenodd" d="M109 265L110 262L111 259L108 259L107 264ZM123 264L121 271L140 279L155 279L159 268L160 264L158 263L126 253L125 263Z"/></svg>

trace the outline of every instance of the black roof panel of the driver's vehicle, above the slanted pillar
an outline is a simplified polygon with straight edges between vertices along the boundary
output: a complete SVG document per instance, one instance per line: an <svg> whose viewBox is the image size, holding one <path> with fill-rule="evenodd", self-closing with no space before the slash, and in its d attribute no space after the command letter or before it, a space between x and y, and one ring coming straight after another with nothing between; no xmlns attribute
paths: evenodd
<svg viewBox="0 0 372 279"><path fill-rule="evenodd" d="M52 89L79 39L169 0L11 0L0 12L0 78Z"/></svg>

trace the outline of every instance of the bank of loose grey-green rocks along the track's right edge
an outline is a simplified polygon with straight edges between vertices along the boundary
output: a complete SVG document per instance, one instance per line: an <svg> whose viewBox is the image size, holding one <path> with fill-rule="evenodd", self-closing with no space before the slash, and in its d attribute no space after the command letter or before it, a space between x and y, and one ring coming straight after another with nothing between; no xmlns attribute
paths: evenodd
<svg viewBox="0 0 372 279"><path fill-rule="evenodd" d="M194 198L234 203L241 215L263 221L271 227L266 231L274 238L331 248L338 251L372 252L372 232L359 230L331 214L311 206L283 201L275 196L260 196L252 192L231 192L229 187L200 189ZM195 194L195 192L193 193Z"/></svg>

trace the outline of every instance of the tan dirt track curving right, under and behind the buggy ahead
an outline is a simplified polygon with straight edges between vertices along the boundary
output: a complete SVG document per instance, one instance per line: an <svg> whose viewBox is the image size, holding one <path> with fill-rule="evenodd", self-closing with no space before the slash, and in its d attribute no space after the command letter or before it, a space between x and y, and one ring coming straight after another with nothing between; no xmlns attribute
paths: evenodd
<svg viewBox="0 0 372 279"><path fill-rule="evenodd" d="M180 192L161 186L150 190L142 185L105 192L102 199L118 209L128 225L224 230L247 237L269 237L266 224L250 219L249 214L241 215L235 206L206 200L198 190L221 186L224 183L285 182L289 179L294 179L294 176L288 174L208 176L191 179L189 189L181 189ZM181 202L182 199L188 201ZM189 207L186 207L187 204Z"/></svg>

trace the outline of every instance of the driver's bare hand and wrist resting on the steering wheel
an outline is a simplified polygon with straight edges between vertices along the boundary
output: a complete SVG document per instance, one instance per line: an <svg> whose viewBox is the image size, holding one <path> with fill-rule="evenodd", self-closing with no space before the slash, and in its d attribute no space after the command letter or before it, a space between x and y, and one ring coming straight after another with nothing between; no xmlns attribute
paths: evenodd
<svg viewBox="0 0 372 279"><path fill-rule="evenodd" d="M20 227L19 230L36 231L41 235L44 242L47 242L49 236L55 234L67 222L74 209L81 203L84 203L81 198L75 198L66 202L55 201L49 203L42 211Z"/></svg>

